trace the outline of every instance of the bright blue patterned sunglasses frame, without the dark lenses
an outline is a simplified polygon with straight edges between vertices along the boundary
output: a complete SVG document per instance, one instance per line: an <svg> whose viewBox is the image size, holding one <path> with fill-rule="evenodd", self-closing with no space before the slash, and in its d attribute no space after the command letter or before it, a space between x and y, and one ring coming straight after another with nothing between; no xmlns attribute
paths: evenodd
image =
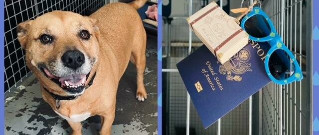
<svg viewBox="0 0 319 135"><path fill-rule="evenodd" d="M259 7L254 7L252 9L251 12L249 12L241 21L241 28L243 30L245 30L245 23L246 21L255 16L255 15L261 15L262 17L264 17L268 23L268 25L270 26L271 32L268 36L263 37L263 38L256 38L253 37L251 35L249 35L249 39L256 41L256 42L268 42L271 46L271 48L269 49L269 51L267 52L266 58L265 58L265 69L266 69L266 73L269 76L269 78L274 81L277 84L289 84L292 83L294 81L300 81L303 79L303 73L302 70L298 64L298 61L296 60L295 56L292 54L292 52L286 47L286 45L283 43L281 37L279 36L279 34L277 33L274 24L272 23L271 19L268 17L268 15ZM245 30L246 31L246 30ZM281 49L282 51L285 51L288 56L290 57L290 59L293 61L294 66L295 66L295 71L294 73L286 78L286 79L282 79L282 80L278 80L276 79L271 73L270 73L270 69L269 69L269 58L271 56L272 53L274 53L276 50ZM286 59L284 58L283 54L280 55L279 57L281 57L281 59ZM290 65L290 63L288 63L288 65Z"/></svg>

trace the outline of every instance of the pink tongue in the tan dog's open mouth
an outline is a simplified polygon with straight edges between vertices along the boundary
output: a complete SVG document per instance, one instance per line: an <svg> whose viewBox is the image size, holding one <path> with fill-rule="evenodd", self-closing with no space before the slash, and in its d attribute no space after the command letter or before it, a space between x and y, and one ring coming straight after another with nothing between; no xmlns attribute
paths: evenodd
<svg viewBox="0 0 319 135"><path fill-rule="evenodd" d="M85 83L86 75L85 74L72 74L66 77L60 77L59 81L61 84L65 85L65 81L67 81L70 85L80 85L82 83Z"/></svg>

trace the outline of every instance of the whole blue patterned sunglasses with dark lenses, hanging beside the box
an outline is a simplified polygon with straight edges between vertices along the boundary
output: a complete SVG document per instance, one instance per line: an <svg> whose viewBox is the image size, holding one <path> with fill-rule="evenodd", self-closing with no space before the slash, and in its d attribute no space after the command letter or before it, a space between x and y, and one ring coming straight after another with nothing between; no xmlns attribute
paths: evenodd
<svg viewBox="0 0 319 135"><path fill-rule="evenodd" d="M268 42L271 46L265 58L265 69L271 80L277 84L288 84L303 79L299 64L281 40L276 29L259 7L254 7L241 21L241 27L256 42Z"/></svg>

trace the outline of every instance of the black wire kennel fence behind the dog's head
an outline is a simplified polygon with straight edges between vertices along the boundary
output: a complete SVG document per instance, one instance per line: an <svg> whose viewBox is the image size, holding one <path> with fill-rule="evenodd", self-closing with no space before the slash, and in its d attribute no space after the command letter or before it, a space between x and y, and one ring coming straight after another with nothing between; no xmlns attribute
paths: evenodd
<svg viewBox="0 0 319 135"><path fill-rule="evenodd" d="M73 11L85 15L108 0L4 0L4 91L10 90L31 74L25 65L24 50L16 34L21 22L53 10Z"/></svg>

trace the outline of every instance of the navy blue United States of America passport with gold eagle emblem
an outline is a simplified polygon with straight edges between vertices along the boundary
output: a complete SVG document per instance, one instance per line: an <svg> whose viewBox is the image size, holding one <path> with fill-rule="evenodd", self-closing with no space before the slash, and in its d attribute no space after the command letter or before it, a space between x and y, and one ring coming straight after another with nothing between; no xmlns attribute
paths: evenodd
<svg viewBox="0 0 319 135"><path fill-rule="evenodd" d="M249 41L221 65L203 45L177 64L205 129L271 81L263 62L269 47Z"/></svg>

